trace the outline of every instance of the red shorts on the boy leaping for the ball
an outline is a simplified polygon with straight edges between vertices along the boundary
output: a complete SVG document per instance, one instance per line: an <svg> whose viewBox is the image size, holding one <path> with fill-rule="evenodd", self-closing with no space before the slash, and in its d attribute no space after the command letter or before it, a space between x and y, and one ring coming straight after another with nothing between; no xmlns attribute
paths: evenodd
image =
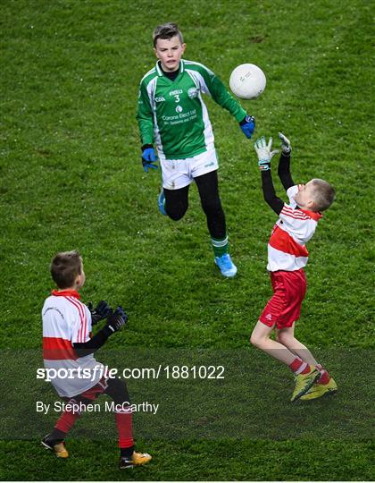
<svg viewBox="0 0 375 483"><path fill-rule="evenodd" d="M293 272L279 270L271 272L273 295L259 320L266 326L291 327L301 314L301 305L306 293L304 269Z"/></svg>

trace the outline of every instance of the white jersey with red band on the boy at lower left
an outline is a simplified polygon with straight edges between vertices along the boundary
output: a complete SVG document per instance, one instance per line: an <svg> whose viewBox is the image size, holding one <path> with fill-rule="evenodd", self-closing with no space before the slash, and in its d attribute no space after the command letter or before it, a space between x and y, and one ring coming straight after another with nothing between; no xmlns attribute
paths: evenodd
<svg viewBox="0 0 375 483"><path fill-rule="evenodd" d="M71 397L95 386L103 376L103 364L93 354L78 357L72 346L87 342L91 333L91 313L79 301L79 292L52 292L43 306L42 319L43 360L46 369L57 372L51 377L57 393Z"/></svg>

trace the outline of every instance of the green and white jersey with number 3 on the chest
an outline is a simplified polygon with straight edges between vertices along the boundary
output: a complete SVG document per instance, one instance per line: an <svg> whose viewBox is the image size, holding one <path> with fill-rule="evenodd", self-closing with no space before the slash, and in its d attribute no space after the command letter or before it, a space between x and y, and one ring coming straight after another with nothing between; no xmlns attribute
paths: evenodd
<svg viewBox="0 0 375 483"><path fill-rule="evenodd" d="M181 60L175 80L158 61L140 82L137 121L142 144L156 144L161 159L185 159L214 148L202 94L209 94L240 123L246 111L207 67Z"/></svg>

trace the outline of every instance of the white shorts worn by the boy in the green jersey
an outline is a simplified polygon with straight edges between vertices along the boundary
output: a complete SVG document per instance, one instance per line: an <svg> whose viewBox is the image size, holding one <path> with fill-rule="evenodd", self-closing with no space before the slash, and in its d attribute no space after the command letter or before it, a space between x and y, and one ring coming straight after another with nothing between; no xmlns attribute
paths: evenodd
<svg viewBox="0 0 375 483"><path fill-rule="evenodd" d="M215 149L186 159L161 159L160 165L162 166L162 187L167 190L184 188L197 176L215 171L219 167Z"/></svg>

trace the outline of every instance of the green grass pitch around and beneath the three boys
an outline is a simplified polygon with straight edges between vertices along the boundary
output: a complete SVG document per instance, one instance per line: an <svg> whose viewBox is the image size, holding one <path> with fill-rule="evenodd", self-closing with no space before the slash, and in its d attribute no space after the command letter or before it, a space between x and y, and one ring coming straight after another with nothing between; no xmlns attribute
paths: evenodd
<svg viewBox="0 0 375 483"><path fill-rule="evenodd" d="M372 11L363 0L1 2L0 479L374 479ZM237 64L261 66L267 88L242 103L256 135L286 133L296 181L321 177L337 190L308 245L296 327L337 379L331 401L291 408L287 369L249 346L271 295L275 216L262 200L253 142L207 97L237 276L225 280L213 265L195 186L178 224L157 210L160 174L141 168L135 114L138 81L155 61L151 34L165 21L179 23L185 57L227 86ZM39 445L46 419L31 402L54 397L31 370L41 357L40 310L54 288L50 259L72 249L85 260L83 299L129 312L99 360L111 351L125 361L144 351L146 366L161 354L171 364L184 351L213 362L232 354L223 386L192 385L202 414L177 414L174 433L169 419L150 419L147 432L135 416L137 446L154 456L145 468L117 470L115 436L95 433L101 415L79 421L68 461ZM179 403L187 386L170 387L167 401ZM157 381L129 381L129 391L162 402Z"/></svg>

